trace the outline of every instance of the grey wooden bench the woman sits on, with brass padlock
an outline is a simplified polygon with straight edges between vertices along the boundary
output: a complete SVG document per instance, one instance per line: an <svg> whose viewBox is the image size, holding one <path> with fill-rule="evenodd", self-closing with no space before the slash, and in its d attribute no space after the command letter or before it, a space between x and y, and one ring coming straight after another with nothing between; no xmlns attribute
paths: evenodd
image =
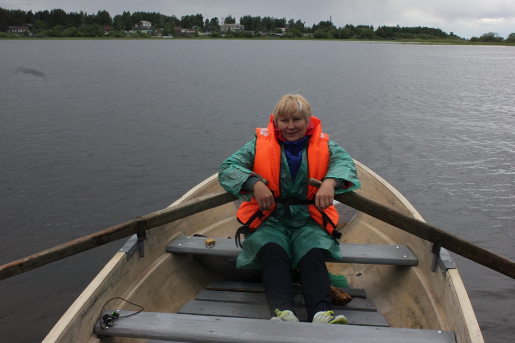
<svg viewBox="0 0 515 343"><path fill-rule="evenodd" d="M243 240L242 240L243 241ZM205 246L204 237L181 236L166 246L167 252L237 257L242 251L232 239L216 239L213 247ZM417 265L417 258L405 245L340 244L342 260L326 258L327 262Z"/></svg>

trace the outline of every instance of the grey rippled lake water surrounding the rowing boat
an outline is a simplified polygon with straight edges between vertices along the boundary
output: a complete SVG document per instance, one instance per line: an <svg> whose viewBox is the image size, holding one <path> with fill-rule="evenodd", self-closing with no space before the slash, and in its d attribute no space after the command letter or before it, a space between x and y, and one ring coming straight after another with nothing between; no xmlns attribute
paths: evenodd
<svg viewBox="0 0 515 343"><path fill-rule="evenodd" d="M4 40L0 53L0 264L165 208L290 92L428 223L515 260L513 47ZM43 339L124 242L0 281L2 341ZM515 280L452 256L485 340L511 341Z"/></svg>

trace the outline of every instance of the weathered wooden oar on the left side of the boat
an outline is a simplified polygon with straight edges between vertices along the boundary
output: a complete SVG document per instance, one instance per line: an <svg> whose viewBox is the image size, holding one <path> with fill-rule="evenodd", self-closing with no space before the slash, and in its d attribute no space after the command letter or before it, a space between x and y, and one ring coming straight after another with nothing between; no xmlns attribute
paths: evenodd
<svg viewBox="0 0 515 343"><path fill-rule="evenodd" d="M27 272L28 270L40 267L50 262L78 254L79 252L89 250L124 237L132 236L136 233L139 233L140 236L140 234L144 234L145 230L185 218L213 207L230 203L234 200L236 200L234 195L227 193L226 191L219 191L200 196L190 201L185 201L164 210L144 215L123 224L92 233L89 236L78 238L74 241L43 250L23 259L4 264L3 266L0 266L0 280Z"/></svg>

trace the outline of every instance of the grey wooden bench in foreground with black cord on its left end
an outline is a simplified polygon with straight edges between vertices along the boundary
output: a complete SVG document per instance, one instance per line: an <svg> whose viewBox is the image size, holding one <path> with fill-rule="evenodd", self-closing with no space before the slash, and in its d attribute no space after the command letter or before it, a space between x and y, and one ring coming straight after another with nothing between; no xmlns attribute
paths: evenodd
<svg viewBox="0 0 515 343"><path fill-rule="evenodd" d="M112 312L107 310L105 313ZM131 312L120 311L121 315ZM141 312L119 318L99 336L118 336L192 343L456 343L453 331L359 327L272 320Z"/></svg>

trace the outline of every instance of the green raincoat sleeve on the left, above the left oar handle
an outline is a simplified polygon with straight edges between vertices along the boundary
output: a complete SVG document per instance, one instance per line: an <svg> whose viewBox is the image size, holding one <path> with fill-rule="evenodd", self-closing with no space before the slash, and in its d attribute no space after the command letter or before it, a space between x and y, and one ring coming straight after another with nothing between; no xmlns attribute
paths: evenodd
<svg viewBox="0 0 515 343"><path fill-rule="evenodd" d="M221 164L218 171L218 182L229 193L241 198L243 201L250 201L253 193L242 190L243 184L249 176L263 178L252 172L254 168L254 157L256 151L256 138L248 142L242 149L232 154Z"/></svg>

